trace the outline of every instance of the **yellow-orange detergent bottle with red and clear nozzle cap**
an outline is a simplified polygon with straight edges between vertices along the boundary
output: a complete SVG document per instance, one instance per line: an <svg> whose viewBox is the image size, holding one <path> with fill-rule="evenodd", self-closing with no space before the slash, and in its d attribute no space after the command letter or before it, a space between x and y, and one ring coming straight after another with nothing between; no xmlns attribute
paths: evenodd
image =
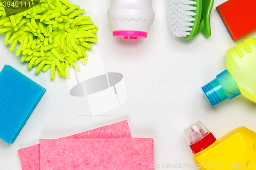
<svg viewBox="0 0 256 170"><path fill-rule="evenodd" d="M220 139L199 121L184 130L199 169L256 169L256 133L240 127Z"/></svg>

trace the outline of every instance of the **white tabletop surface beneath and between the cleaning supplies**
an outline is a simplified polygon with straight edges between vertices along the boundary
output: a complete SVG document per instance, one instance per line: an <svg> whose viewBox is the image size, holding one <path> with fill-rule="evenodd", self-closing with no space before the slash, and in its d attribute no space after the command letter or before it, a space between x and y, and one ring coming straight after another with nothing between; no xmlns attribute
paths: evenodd
<svg viewBox="0 0 256 170"><path fill-rule="evenodd" d="M84 8L99 27L98 42L88 52L89 57L100 53L106 72L124 76L128 99L105 116L90 116L88 100L71 96L66 80L58 78L57 73L52 82L50 71L35 75L36 68L28 70L28 63L21 63L20 57L9 51L10 45L4 45L5 35L1 34L0 69L9 64L47 91L15 142L9 145L0 140L0 169L22 169L17 150L37 144L39 139L65 137L126 119L132 137L155 139L155 164L193 164L183 130L197 120L217 138L240 126L256 131L256 104L240 95L212 108L201 91L225 69L228 48L256 37L253 32L237 41L231 39L216 10L223 2L216 1L212 8L210 38L202 34L193 40L173 37L167 23L166 1L153 0L156 16L148 38L124 40L112 36L106 18L110 0L70 0ZM173 89L143 89L165 85ZM161 99L165 93L172 99ZM147 94L152 98L143 99Z"/></svg>

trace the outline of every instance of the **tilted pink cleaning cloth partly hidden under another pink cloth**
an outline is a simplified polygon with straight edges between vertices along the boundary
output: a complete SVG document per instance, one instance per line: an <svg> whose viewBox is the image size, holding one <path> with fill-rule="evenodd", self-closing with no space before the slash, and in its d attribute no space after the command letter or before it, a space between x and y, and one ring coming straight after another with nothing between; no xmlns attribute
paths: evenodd
<svg viewBox="0 0 256 170"><path fill-rule="evenodd" d="M65 139L86 139L86 138L131 138L131 132L127 120L104 126L83 133L65 137ZM18 156L23 170L40 169L40 145L18 150Z"/></svg>

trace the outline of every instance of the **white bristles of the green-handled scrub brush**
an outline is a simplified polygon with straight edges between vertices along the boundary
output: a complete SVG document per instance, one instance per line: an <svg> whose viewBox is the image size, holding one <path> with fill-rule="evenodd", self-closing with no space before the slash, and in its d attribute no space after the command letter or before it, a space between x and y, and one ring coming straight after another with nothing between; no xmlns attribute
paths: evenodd
<svg viewBox="0 0 256 170"><path fill-rule="evenodd" d="M196 13L193 10L197 8L193 5L197 3L192 0L167 0L168 7L168 21L170 30L173 32L176 37L186 37L192 29L191 26L194 24L191 21L194 21L193 16Z"/></svg>

